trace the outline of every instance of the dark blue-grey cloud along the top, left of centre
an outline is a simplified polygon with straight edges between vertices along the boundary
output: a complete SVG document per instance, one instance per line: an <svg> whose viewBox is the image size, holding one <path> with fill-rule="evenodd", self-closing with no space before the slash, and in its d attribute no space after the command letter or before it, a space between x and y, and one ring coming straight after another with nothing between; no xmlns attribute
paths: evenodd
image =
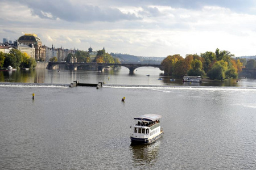
<svg viewBox="0 0 256 170"><path fill-rule="evenodd" d="M71 1L24 1L32 15L43 19L61 19L68 22L117 22L119 20L141 19L131 13L123 13L118 8L100 7Z"/></svg>

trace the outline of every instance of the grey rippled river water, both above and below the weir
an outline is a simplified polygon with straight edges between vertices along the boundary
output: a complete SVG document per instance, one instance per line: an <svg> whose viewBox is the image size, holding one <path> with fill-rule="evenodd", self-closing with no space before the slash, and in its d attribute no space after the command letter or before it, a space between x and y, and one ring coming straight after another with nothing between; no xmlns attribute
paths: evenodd
<svg viewBox="0 0 256 170"><path fill-rule="evenodd" d="M0 72L0 169L255 169L255 80L183 84L161 73ZM145 113L163 116L164 135L131 146L133 117Z"/></svg>

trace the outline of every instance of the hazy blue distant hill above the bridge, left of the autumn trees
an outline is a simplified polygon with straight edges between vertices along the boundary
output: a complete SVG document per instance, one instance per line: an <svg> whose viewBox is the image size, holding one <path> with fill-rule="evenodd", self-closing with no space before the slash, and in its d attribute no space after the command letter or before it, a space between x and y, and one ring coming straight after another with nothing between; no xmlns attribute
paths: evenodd
<svg viewBox="0 0 256 170"><path fill-rule="evenodd" d="M139 57L122 53L110 53L113 57L119 58L121 63L143 63L160 64L166 57Z"/></svg>

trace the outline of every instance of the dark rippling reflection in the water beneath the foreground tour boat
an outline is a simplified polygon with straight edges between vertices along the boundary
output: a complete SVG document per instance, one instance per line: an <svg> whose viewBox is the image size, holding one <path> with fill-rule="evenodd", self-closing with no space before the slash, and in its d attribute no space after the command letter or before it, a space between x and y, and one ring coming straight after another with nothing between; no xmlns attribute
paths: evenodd
<svg viewBox="0 0 256 170"><path fill-rule="evenodd" d="M159 154L160 140L150 145L131 145L132 160L134 167L139 165L147 165L149 167L155 165Z"/></svg>

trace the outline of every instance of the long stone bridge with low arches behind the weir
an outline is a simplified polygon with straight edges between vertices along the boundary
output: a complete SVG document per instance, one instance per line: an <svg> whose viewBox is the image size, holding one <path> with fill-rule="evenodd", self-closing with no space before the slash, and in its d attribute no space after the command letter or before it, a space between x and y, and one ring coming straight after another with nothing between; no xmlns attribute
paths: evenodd
<svg viewBox="0 0 256 170"><path fill-rule="evenodd" d="M133 63L71 63L71 62L49 62L48 63L48 69L52 70L55 66L64 66L68 68L69 70L77 70L77 67L79 66L93 66L97 67L98 70L102 71L105 67L113 66L123 66L127 67L130 71L129 74L134 74L134 70L138 67L158 67L160 69L161 65L157 64L133 64Z"/></svg>

